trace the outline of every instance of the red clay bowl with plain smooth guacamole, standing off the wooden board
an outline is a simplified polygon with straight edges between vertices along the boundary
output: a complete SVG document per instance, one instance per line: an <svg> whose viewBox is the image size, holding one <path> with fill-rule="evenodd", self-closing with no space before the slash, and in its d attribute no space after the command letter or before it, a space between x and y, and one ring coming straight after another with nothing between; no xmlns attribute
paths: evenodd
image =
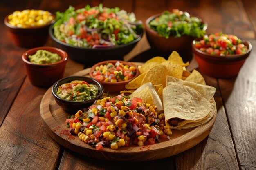
<svg viewBox="0 0 256 170"><path fill-rule="evenodd" d="M63 77L67 58L67 53L61 49L42 46L23 53L22 62L31 84L49 87Z"/></svg>

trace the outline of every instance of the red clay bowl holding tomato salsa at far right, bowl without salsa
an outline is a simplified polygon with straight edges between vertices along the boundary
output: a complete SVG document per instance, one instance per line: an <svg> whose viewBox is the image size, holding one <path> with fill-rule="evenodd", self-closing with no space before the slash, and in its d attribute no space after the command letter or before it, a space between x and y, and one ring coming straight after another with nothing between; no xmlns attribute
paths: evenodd
<svg viewBox="0 0 256 170"><path fill-rule="evenodd" d="M252 44L249 41L243 38L240 39L247 46L248 50L244 54L228 56L211 55L200 51L195 48L195 42L201 39L193 40L193 56L198 62L200 72L218 78L235 77L252 50Z"/></svg>

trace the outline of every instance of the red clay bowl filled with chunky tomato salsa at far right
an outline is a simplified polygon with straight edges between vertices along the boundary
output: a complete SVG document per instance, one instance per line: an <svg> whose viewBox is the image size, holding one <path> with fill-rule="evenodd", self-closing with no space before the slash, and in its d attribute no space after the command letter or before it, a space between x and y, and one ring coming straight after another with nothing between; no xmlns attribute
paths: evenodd
<svg viewBox="0 0 256 170"><path fill-rule="evenodd" d="M219 39L219 33L211 35L192 42L193 55L200 72L212 77L235 77L249 56L252 44L234 35L229 35L225 40Z"/></svg>

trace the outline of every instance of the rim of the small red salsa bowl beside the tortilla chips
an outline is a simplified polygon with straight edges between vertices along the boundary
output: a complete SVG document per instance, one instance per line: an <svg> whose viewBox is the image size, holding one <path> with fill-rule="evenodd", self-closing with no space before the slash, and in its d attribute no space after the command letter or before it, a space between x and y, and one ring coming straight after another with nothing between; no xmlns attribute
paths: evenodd
<svg viewBox="0 0 256 170"><path fill-rule="evenodd" d="M98 62L98 63L94 64L94 65L91 67L90 72L89 72L90 77L91 77L92 79L94 79L92 73L94 72L95 67L100 66L101 64L105 64L106 62L111 62L112 64L115 64L115 63L113 63L113 62L117 62L117 61L119 61L119 62L121 62L121 63L124 63L125 65L134 66L134 67L135 67L135 70L136 70L135 76L132 77L132 79L128 79L128 80L126 80L126 81L121 81L121 82L104 82L104 81L103 81L103 82L100 82L101 84L104 84L104 85L112 85L112 86L117 86L117 85L121 85L121 84L127 84L127 83L129 83L130 81L132 81L133 79L135 79L136 77L139 76L139 69L138 69L138 67L137 67L135 64L131 63L131 62L126 62L126 61L122 61L122 60L106 60L106 61Z"/></svg>

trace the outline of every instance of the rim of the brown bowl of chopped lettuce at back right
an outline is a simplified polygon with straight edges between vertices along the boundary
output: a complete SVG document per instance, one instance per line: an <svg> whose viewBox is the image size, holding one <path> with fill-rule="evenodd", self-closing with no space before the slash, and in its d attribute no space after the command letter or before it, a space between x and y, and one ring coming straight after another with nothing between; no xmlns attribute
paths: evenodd
<svg viewBox="0 0 256 170"><path fill-rule="evenodd" d="M158 16L160 16L160 15L162 15L162 14L163 14L163 12L162 12L162 13L157 13L157 14L155 14L155 15L150 16L150 17L146 20L145 28L146 28L146 31L149 31L150 33L154 34L155 36L161 37L161 38L165 38L165 37L163 37L163 36L160 36L160 35L157 33L157 31L151 29L150 26L149 26L149 23L150 23L153 19L157 18ZM193 16L193 17L197 17L199 20L201 20L201 22L205 24L203 30L205 30L205 31L207 30L207 28L208 28L208 23L207 23L207 22L205 22L204 20L202 20L200 17L198 17L198 16L196 16L196 15L191 15L191 14L189 14L189 15L190 15L190 16ZM190 36L190 35L182 35L182 36L193 37L193 36ZM170 35L169 37L174 37L174 35ZM177 38L179 38L179 37L177 37Z"/></svg>

